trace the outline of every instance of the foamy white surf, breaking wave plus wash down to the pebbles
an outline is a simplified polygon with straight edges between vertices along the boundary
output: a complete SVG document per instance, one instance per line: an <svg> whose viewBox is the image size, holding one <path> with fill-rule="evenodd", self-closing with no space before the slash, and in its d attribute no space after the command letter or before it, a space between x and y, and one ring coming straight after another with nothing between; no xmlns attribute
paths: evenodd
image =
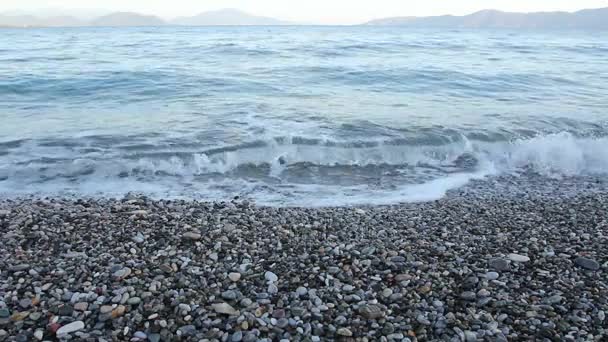
<svg viewBox="0 0 608 342"><path fill-rule="evenodd" d="M436 200L471 180L497 175L608 172L608 138L566 132L496 142L460 135L418 145L281 137L202 151L145 145L120 153L84 152L90 149L84 142L81 151L59 142L13 145L0 165L6 196L136 192L202 200L239 196L279 206L392 204Z"/></svg>

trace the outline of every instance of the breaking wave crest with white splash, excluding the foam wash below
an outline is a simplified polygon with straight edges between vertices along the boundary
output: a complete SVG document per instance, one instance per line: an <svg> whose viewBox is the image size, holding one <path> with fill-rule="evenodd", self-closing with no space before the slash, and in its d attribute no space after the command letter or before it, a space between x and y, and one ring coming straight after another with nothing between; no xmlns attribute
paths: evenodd
<svg viewBox="0 0 608 342"><path fill-rule="evenodd" d="M78 174L80 168L104 172L104 176L116 175L173 175L198 176L205 174L230 174L243 167L264 167L271 176L290 167L426 167L461 168L469 171L471 165L491 165L499 172L536 172L545 176L579 175L608 172L608 138L576 137L572 133L557 133L525 139L489 142L470 140L461 135L446 138L448 143L412 144L415 139L336 141L319 138L281 137L254 141L247 144L195 151L154 149L141 144L132 149L90 154L55 157L25 158L4 166L4 171L14 175L45 170L56 175ZM445 141L444 140L444 141ZM419 139L419 141L425 141ZM58 148L60 144L44 143L28 149ZM20 154L19 144L6 143L7 153ZM66 151L84 148L87 144L66 144ZM142 148L138 151L137 147ZM89 149L90 150L90 149ZM116 149L119 150L119 149ZM46 153L44 149L41 153ZM57 153L57 152L55 152ZM467 165L464 167L463 165ZM51 170L52 169L52 170ZM27 173L27 172L26 172ZM90 171L87 171L90 173Z"/></svg>

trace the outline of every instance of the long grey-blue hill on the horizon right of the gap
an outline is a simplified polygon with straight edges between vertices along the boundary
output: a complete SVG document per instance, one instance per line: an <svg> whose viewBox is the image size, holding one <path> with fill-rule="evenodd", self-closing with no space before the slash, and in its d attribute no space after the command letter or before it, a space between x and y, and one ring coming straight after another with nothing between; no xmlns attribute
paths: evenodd
<svg viewBox="0 0 608 342"><path fill-rule="evenodd" d="M569 12L511 13L483 10L465 16L394 17L366 25L437 28L608 29L608 7Z"/></svg>

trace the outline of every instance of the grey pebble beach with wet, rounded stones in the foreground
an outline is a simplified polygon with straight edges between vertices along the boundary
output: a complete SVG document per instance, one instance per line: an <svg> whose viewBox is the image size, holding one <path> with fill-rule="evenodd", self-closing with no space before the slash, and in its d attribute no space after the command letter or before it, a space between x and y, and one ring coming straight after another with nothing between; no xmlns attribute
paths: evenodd
<svg viewBox="0 0 608 342"><path fill-rule="evenodd" d="M605 341L608 193L0 201L0 341Z"/></svg>

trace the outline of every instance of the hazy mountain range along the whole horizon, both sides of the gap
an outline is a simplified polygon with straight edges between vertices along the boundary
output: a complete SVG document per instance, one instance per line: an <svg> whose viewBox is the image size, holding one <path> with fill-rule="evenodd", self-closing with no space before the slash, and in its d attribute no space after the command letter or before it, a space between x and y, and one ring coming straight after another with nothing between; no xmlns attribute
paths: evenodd
<svg viewBox="0 0 608 342"><path fill-rule="evenodd" d="M293 25L279 19L251 15L235 9L204 12L190 17L164 20L133 12L115 12L96 18L73 16L34 16L21 13L0 14L0 27L77 27L77 26L218 26ZM365 23L372 26L431 28L507 28L507 29L608 29L608 7L578 12L513 13L483 10L465 16L393 17Z"/></svg>

